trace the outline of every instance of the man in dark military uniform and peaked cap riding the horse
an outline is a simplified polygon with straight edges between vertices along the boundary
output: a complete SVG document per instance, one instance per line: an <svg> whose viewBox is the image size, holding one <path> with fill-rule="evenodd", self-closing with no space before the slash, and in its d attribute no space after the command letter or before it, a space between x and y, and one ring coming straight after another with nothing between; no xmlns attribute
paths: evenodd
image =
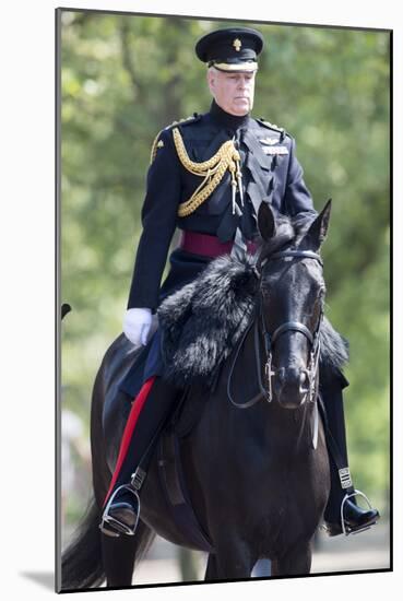
<svg viewBox="0 0 403 601"><path fill-rule="evenodd" d="M153 313L163 298L192 281L215 257L239 248L253 252L261 202L300 222L317 215L295 155L295 141L282 128L250 115L262 47L262 35L251 28L218 30L203 36L195 52L208 64L214 98L211 108L165 128L153 144L143 233L123 321L127 338L143 344L144 351L121 386L135 402L105 499L100 528L106 534L134 533L139 505L132 476L178 398L178 390L161 378L161 340ZM177 227L180 243L169 257L170 271L161 287ZM374 525L379 514L355 503L342 399L347 382L343 374L324 374L323 378L321 374L322 381L332 484L324 519L334 535L360 531Z"/></svg>

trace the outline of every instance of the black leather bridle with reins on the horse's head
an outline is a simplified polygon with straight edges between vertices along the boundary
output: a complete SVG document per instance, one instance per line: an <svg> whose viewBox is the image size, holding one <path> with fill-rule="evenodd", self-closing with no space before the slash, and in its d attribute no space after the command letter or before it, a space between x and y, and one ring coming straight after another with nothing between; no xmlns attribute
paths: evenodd
<svg viewBox="0 0 403 601"><path fill-rule="evenodd" d="M323 262L320 255L311 250L292 250L292 249L280 250L277 252L273 252L273 255L270 255L269 257L264 258L262 261L258 259L253 268L254 274L258 278L258 280L261 282L262 268L264 267L266 261L270 261L273 259L283 259L283 258L312 259L315 261L318 261L319 264L323 267ZM234 355L233 364L229 369L228 380L227 380L227 394L228 394L229 401L239 409L248 409L253 404L256 404L261 399L265 399L268 402L272 402L273 400L272 378L276 374L276 372L274 372L272 368L272 356L273 356L272 349L275 342L278 340L278 338L282 334L284 334L285 332L295 331L295 332L303 333L308 339L308 342L310 344L309 363L308 363L307 369L305 370L307 380L308 380L308 386L309 386L306 400L308 400L308 402L315 402L317 397L318 367L319 367L319 356L320 356L320 328L322 323L322 318L323 318L323 311L321 309L317 328L313 333L300 321L286 321L285 323L282 323L281 326L278 326L274 330L274 332L270 334L265 325L264 313L262 308L262 292L261 292L261 284L260 284L254 319L251 320L250 325L246 329L238 344L238 347ZM264 353L265 353L265 363L264 363L265 382L264 384L262 382L262 376L261 376L259 326L261 328L261 332L264 341ZM245 403L237 403L234 401L233 396L230 393L230 381L232 381L233 373L237 363L240 349L242 347L245 339L247 338L251 328L254 329L254 356L256 356L258 384L259 384L260 391L249 401Z"/></svg>

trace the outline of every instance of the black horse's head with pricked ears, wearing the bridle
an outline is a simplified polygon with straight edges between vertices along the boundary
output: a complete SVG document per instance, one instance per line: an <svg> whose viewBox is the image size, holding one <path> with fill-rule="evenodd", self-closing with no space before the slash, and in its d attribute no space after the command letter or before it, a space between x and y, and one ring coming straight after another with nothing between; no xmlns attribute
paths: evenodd
<svg viewBox="0 0 403 601"><path fill-rule="evenodd" d="M261 318L268 352L270 397L286 409L313 398L319 361L319 328L324 302L320 246L327 235L331 201L309 228L275 219L262 203L258 225L263 245Z"/></svg>

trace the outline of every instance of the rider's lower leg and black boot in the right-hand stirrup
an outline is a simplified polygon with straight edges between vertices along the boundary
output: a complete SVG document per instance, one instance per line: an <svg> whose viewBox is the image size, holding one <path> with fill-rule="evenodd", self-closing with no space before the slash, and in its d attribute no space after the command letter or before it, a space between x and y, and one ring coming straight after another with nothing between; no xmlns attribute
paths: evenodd
<svg viewBox="0 0 403 601"><path fill-rule="evenodd" d="M343 388L346 386L348 381L341 372L334 374L321 370L320 397L324 404L331 478L324 523L330 537L342 532L345 534L360 532L379 519L378 510L370 507L367 497L355 491L349 474L343 408ZM368 509L361 509L356 504L356 496L363 496L367 500Z"/></svg>

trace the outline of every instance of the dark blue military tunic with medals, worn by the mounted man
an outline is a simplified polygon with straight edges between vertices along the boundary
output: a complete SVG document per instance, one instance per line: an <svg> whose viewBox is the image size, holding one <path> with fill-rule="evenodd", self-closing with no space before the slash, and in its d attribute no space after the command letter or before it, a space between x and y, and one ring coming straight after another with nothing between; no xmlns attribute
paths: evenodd
<svg viewBox="0 0 403 601"><path fill-rule="evenodd" d="M221 241L234 239L237 227L246 239L259 236L257 214L261 202L274 212L301 221L317 215L311 196L295 156L295 141L281 128L250 116L234 117L214 102L210 111L177 123L191 161L211 158L228 140L234 140L241 157L244 204L237 195L239 211L233 214L229 173L213 193L190 215L178 216L178 205L189 200L201 178L180 162L173 126L158 138L156 155L147 174L147 188L142 209L143 232L137 251L128 308L155 310L171 292L191 282L206 263L208 257L176 249L170 255L170 270L161 287L170 241L176 228L217 236ZM159 332L144 347L121 389L134 397L142 382L161 375Z"/></svg>

